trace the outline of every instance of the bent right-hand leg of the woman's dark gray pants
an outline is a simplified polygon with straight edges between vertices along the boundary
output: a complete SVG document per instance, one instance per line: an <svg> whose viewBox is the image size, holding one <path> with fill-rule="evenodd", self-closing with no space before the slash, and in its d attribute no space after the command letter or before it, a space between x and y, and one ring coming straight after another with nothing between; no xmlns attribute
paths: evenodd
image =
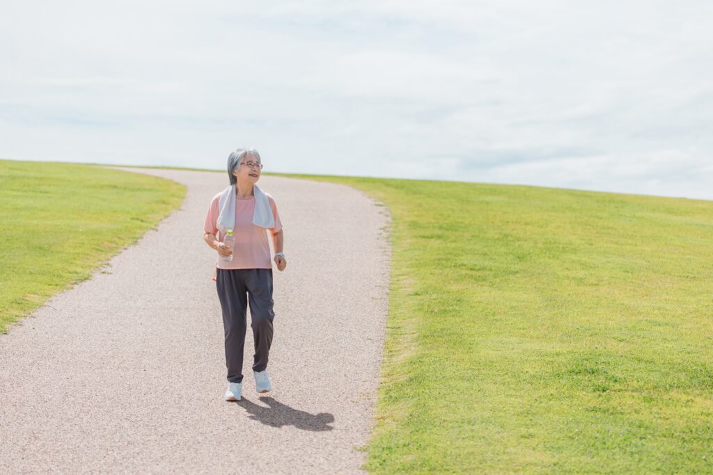
<svg viewBox="0 0 713 475"><path fill-rule="evenodd" d="M252 337L255 340L252 370L260 372L267 368L267 360L272 345L272 269L250 269L247 286Z"/></svg>

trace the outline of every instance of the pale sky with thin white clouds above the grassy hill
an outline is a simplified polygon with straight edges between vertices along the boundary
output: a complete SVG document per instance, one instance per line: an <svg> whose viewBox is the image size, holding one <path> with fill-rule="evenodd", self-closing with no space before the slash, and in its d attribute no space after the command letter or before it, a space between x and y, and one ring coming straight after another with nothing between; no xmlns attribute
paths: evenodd
<svg viewBox="0 0 713 475"><path fill-rule="evenodd" d="M713 199L713 2L4 0L0 158Z"/></svg>

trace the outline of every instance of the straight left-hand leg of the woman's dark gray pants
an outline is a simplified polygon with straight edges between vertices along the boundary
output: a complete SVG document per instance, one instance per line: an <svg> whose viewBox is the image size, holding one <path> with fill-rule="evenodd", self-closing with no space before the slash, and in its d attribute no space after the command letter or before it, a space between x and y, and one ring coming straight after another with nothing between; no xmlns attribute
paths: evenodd
<svg viewBox="0 0 713 475"><path fill-rule="evenodd" d="M225 330L225 366L227 380L242 382L242 352L245 348L245 330L247 319L246 288L242 269L217 269L215 287L217 288L220 308L222 309L223 328Z"/></svg>

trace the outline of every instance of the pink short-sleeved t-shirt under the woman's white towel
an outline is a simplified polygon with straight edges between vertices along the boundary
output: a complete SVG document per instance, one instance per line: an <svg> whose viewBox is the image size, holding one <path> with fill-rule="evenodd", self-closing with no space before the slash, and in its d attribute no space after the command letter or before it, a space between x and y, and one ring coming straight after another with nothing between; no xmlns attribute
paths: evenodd
<svg viewBox="0 0 713 475"><path fill-rule="evenodd" d="M267 231L275 234L282 229L279 221L275 200L267 194L267 200L272 208L272 215L275 216L275 227L270 229L261 228L252 224L252 215L255 213L255 197L238 198L235 197L235 229L232 234L235 236L235 247L233 248L232 261L223 262L220 256L215 261L216 268L239 269L239 268L272 268L270 259L270 244L267 242ZM210 202L208 214L205 216L204 231L215 234L218 241L222 242L225 237L217 229L216 224L220 209L218 207L220 193L216 194ZM213 269L213 280L216 275Z"/></svg>

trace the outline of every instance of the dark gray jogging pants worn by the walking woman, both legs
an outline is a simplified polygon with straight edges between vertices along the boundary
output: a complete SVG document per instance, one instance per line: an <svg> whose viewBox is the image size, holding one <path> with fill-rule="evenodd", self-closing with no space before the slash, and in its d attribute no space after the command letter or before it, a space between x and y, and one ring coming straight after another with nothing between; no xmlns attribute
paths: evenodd
<svg viewBox="0 0 713 475"><path fill-rule="evenodd" d="M250 303L255 355L252 370L267 367L272 345L272 269L217 269L215 277L223 328L225 329L225 366L227 380L242 382L242 353L247 327L246 310ZM246 298L247 294L247 298Z"/></svg>

